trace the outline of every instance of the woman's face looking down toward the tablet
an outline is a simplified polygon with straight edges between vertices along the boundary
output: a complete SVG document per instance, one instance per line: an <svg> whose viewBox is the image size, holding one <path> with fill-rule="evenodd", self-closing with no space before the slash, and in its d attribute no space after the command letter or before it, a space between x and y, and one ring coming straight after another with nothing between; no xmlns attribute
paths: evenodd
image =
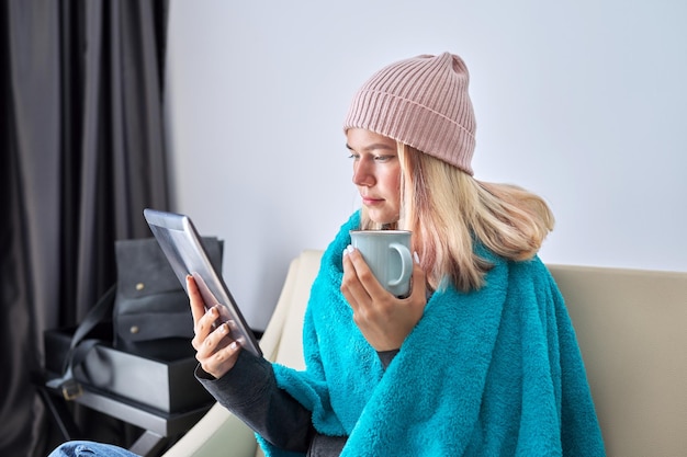
<svg viewBox="0 0 687 457"><path fill-rule="evenodd" d="M401 163L396 141L362 128L346 133L346 147L353 159L353 184L370 219L378 224L398 220Z"/></svg>

